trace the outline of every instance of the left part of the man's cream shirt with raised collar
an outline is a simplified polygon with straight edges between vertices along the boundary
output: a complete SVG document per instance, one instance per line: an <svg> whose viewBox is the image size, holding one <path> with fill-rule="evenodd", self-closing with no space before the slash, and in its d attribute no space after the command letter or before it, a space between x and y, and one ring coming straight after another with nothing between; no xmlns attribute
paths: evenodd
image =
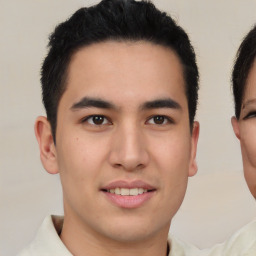
<svg viewBox="0 0 256 256"><path fill-rule="evenodd" d="M62 216L47 216L38 229L33 241L18 256L71 256L72 254L67 250L59 237L62 225Z"/></svg>

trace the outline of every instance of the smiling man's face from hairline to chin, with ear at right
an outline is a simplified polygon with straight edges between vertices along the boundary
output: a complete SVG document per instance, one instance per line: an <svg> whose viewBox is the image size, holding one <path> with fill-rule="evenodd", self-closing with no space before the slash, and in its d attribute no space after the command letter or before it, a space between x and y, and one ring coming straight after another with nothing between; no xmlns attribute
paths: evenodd
<svg viewBox="0 0 256 256"><path fill-rule="evenodd" d="M182 65L147 42L104 42L71 59L58 107L56 170L65 220L87 234L167 234L194 161ZM65 223L64 220L64 223Z"/></svg>

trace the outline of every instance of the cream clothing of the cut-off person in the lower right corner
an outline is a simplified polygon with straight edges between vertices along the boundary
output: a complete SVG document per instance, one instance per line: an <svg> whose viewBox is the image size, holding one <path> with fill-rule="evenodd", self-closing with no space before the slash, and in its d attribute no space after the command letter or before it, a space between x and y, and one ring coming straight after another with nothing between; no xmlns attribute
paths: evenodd
<svg viewBox="0 0 256 256"><path fill-rule="evenodd" d="M202 256L256 256L256 219L238 230L230 239L210 249Z"/></svg>

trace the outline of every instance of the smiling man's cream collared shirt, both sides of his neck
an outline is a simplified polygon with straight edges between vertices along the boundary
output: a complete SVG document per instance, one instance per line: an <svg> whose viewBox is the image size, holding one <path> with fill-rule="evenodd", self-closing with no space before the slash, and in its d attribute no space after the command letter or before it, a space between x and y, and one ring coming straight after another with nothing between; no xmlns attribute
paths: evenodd
<svg viewBox="0 0 256 256"><path fill-rule="evenodd" d="M72 256L59 237L62 225L63 217L46 217L34 240L18 256ZM168 256L199 255L196 247L185 244L178 239L170 237L168 242L171 245Z"/></svg>

